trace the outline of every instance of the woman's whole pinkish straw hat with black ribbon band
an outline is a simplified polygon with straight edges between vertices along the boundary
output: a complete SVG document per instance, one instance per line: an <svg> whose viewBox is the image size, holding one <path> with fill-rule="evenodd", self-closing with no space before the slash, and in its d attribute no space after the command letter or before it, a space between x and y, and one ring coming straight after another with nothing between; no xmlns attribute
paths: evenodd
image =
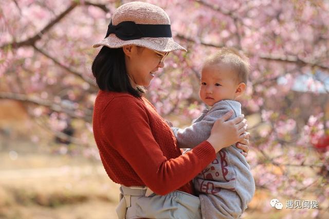
<svg viewBox="0 0 329 219"><path fill-rule="evenodd" d="M187 51L174 42L168 14L158 6L143 2L126 3L117 8L105 39L93 47L119 48L124 45L137 45L162 52Z"/></svg>

